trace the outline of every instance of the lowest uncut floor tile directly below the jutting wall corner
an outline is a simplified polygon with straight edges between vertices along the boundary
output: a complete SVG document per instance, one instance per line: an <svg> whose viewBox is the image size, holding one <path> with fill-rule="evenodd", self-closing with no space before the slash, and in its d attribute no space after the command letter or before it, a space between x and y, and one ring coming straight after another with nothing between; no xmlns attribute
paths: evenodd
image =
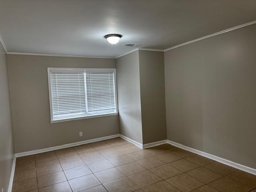
<svg viewBox="0 0 256 192"><path fill-rule="evenodd" d="M128 178L132 180L140 188L154 184L162 180L160 177L156 176L154 173L150 172L149 170L132 174L128 176Z"/></svg>

